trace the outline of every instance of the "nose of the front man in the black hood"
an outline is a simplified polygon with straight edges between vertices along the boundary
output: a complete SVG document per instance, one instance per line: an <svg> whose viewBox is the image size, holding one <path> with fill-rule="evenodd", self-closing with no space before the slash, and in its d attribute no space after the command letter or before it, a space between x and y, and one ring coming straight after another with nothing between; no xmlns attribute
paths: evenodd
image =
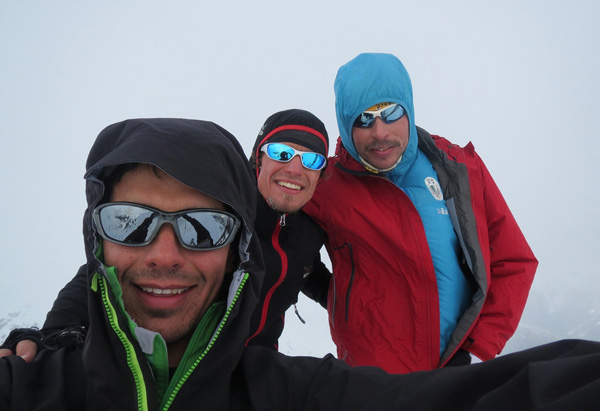
<svg viewBox="0 0 600 411"><path fill-rule="evenodd" d="M185 265L183 247L179 244L175 230L170 224L164 224L154 240L148 244L144 261L148 267L181 269Z"/></svg>

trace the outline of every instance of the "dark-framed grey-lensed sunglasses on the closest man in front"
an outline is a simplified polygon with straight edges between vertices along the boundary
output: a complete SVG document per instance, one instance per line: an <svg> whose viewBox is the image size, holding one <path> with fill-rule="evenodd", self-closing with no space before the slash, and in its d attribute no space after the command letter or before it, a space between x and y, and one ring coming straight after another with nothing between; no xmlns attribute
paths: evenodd
<svg viewBox="0 0 600 411"><path fill-rule="evenodd" d="M169 223L182 247L215 250L231 243L240 228L235 215L221 210L198 208L165 213L135 203L106 203L96 207L94 223L102 238L116 244L148 245L164 223Z"/></svg>

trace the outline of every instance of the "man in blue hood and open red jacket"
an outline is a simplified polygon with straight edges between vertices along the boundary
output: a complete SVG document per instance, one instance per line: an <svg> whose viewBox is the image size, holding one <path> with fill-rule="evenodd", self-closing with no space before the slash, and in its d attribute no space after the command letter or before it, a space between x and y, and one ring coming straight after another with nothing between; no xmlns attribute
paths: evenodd
<svg viewBox="0 0 600 411"><path fill-rule="evenodd" d="M391 54L357 56L334 89L336 155L303 210L328 235L339 358L394 373L493 358L537 260L484 163L416 126Z"/></svg>

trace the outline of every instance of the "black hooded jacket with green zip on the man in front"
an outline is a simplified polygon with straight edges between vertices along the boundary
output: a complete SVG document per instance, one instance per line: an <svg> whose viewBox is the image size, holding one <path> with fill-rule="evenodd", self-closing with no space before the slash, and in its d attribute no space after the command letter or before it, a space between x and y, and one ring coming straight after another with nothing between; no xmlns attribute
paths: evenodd
<svg viewBox="0 0 600 411"><path fill-rule="evenodd" d="M193 159L193 161L185 161ZM159 398L154 374L128 327L95 252L90 212L117 164L154 164L228 204L242 219L239 263L224 288L227 311L207 347L181 363ZM32 363L0 359L0 410L597 410L600 343L563 341L466 367L389 375L331 356L287 357L244 348L260 296L255 185L235 139L212 123L129 120L105 129L86 173L84 217L90 326L83 347L45 350Z"/></svg>

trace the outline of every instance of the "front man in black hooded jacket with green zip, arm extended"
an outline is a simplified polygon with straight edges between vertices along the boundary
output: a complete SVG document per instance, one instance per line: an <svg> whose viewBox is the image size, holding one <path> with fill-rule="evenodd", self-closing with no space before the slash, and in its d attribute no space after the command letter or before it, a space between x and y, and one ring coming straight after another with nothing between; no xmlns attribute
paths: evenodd
<svg viewBox="0 0 600 411"><path fill-rule="evenodd" d="M1 358L2 410L600 406L590 341L408 375L244 348L263 267L235 138L210 122L127 120L100 133L86 168L85 343Z"/></svg>

